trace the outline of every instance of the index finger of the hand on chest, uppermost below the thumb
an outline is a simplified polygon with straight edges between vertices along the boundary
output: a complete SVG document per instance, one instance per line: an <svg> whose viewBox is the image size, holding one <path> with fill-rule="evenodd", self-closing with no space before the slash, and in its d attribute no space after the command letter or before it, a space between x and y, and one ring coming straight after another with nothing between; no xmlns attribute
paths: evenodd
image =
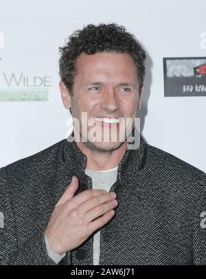
<svg viewBox="0 0 206 279"><path fill-rule="evenodd" d="M79 207L82 203L89 200L90 198L93 198L94 196L99 196L102 194L107 193L105 190L100 189L88 189L84 192L81 192L80 194L77 194L74 196L71 200L69 200L69 207L75 208Z"/></svg>

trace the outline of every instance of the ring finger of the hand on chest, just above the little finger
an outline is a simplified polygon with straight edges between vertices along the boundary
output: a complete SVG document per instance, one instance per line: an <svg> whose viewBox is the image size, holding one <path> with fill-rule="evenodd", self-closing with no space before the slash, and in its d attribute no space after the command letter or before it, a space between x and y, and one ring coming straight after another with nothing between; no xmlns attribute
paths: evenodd
<svg viewBox="0 0 206 279"><path fill-rule="evenodd" d="M111 211L117 206L117 200L109 201L108 203L104 203L104 205L98 205L94 209L91 209L86 214L84 214L84 220L86 223L90 223L96 218L104 215L106 212Z"/></svg>

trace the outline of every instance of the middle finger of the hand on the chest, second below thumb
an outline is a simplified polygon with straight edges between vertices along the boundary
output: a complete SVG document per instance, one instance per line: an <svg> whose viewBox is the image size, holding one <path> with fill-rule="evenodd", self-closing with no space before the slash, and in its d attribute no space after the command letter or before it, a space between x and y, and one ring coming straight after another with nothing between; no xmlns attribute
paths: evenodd
<svg viewBox="0 0 206 279"><path fill-rule="evenodd" d="M114 200L115 198L116 198L115 192L109 192L99 196L94 196L93 198L90 198L89 200L82 203L80 207L78 207L78 209L82 214L85 214L87 213L87 211L97 207L98 205L107 203L108 201Z"/></svg>

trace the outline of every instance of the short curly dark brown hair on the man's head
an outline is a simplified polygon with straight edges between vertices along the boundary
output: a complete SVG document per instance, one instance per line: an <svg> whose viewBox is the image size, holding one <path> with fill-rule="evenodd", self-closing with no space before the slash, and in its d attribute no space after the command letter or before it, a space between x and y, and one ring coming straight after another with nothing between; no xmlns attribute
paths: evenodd
<svg viewBox="0 0 206 279"><path fill-rule="evenodd" d="M84 52L95 54L98 52L128 53L137 66L139 90L144 83L146 53L133 34L126 32L126 28L116 23L99 25L89 24L82 30L76 30L67 39L67 43L59 48L60 78L73 96L73 79L76 74L76 59Z"/></svg>

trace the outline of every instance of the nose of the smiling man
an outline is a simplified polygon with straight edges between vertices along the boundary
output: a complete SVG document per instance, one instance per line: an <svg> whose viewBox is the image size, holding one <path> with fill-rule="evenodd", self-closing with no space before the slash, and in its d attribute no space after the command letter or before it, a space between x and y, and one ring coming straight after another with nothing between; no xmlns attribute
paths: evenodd
<svg viewBox="0 0 206 279"><path fill-rule="evenodd" d="M119 109L119 100L114 90L107 91L104 93L102 98L102 108L111 112L115 112Z"/></svg>

